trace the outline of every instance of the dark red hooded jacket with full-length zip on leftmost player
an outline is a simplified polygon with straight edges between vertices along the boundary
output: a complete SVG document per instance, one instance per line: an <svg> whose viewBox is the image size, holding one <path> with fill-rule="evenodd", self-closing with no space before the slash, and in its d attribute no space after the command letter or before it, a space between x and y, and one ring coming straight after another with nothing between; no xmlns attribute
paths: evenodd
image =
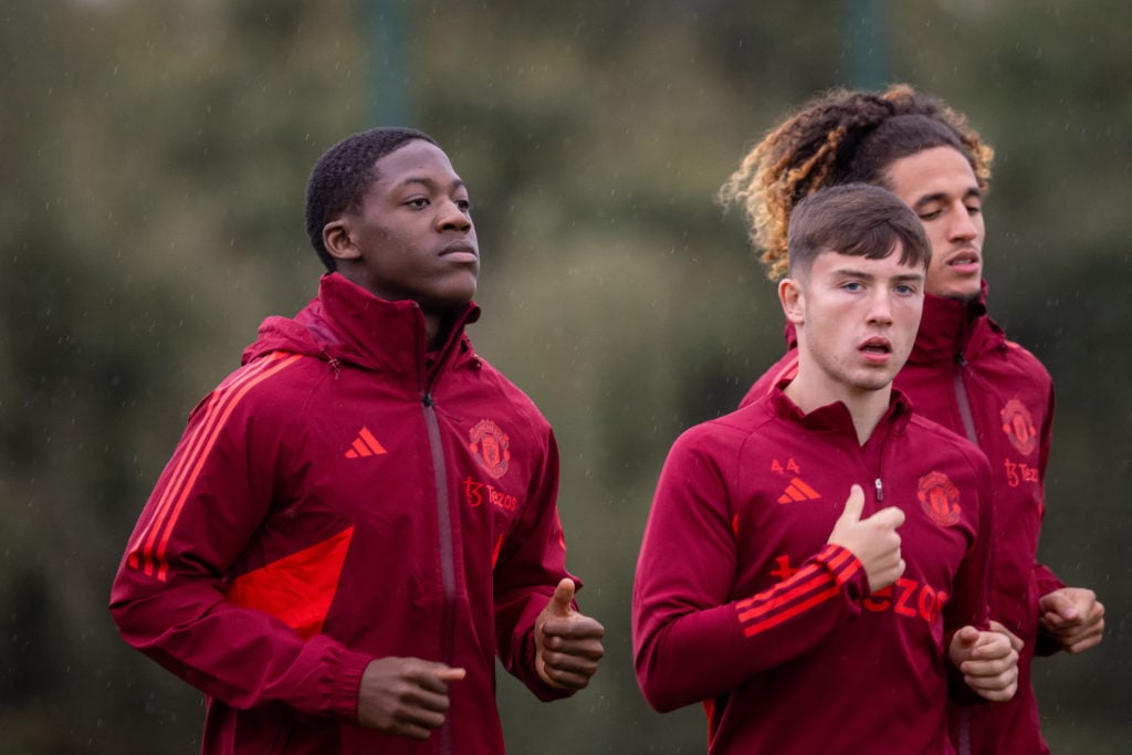
<svg viewBox="0 0 1132 755"><path fill-rule="evenodd" d="M191 412L111 593L131 645L207 695L203 752L504 752L495 659L540 698L533 625L565 569L558 452L413 302L338 274L271 317ZM374 659L462 667L423 743L362 729Z"/></svg>

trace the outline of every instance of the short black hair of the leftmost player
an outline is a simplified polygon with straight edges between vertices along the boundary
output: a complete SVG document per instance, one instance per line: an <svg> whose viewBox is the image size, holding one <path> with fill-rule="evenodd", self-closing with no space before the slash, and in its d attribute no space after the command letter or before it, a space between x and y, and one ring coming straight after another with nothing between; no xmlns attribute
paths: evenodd
<svg viewBox="0 0 1132 755"><path fill-rule="evenodd" d="M412 128L375 128L354 134L323 153L307 180L307 235L326 269L337 268L323 242L323 229L341 213L361 207L362 197L378 180L377 161L409 141L437 144Z"/></svg>

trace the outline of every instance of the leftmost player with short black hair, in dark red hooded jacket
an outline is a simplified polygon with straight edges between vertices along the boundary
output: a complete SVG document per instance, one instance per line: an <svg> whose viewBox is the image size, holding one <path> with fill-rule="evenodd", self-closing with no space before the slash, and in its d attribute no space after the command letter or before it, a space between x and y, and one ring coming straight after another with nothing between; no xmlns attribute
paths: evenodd
<svg viewBox="0 0 1132 755"><path fill-rule="evenodd" d="M585 687L534 404L472 349L468 188L412 129L327 151L307 194L327 267L191 413L114 580L122 636L201 689L204 753L504 749L495 661Z"/></svg>

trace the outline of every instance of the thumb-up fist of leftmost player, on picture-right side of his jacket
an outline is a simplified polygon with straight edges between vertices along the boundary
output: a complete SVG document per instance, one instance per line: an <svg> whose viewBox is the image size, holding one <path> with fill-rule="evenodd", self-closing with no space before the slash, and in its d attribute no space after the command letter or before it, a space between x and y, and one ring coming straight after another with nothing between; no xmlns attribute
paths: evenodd
<svg viewBox="0 0 1132 755"><path fill-rule="evenodd" d="M606 654L606 628L574 610L574 581L564 578L534 620L534 670L551 687L582 689Z"/></svg>

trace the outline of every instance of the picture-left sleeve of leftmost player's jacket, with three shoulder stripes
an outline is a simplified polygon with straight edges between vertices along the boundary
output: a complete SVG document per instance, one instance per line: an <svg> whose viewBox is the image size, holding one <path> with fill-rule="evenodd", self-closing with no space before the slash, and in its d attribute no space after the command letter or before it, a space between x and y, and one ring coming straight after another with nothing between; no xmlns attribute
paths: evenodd
<svg viewBox="0 0 1132 755"><path fill-rule="evenodd" d="M275 479L276 449L255 435L248 391L285 359L251 363L194 411L130 538L110 610L126 642L229 705L278 701L354 721L371 658L324 635L305 641L223 591Z"/></svg>

